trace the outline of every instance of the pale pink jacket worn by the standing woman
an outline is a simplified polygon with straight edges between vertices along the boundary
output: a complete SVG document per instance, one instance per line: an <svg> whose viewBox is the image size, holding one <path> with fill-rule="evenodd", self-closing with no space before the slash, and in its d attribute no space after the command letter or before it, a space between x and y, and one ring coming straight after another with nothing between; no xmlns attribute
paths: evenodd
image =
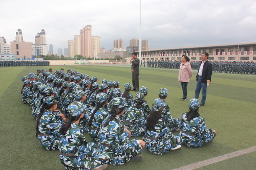
<svg viewBox="0 0 256 170"><path fill-rule="evenodd" d="M180 64L179 81L189 83L189 79L192 77L192 69L189 62L184 65Z"/></svg>

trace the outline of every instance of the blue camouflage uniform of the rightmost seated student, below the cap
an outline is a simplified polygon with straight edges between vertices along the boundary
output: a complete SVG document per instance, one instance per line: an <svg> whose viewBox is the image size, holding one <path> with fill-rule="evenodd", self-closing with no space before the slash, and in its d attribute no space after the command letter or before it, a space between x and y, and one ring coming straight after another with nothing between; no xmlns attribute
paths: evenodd
<svg viewBox="0 0 256 170"><path fill-rule="evenodd" d="M200 147L204 143L215 138L212 129L206 129L205 119L202 116L194 117L187 121L187 113L183 113L178 122L180 135L183 138L182 144L187 147Z"/></svg>

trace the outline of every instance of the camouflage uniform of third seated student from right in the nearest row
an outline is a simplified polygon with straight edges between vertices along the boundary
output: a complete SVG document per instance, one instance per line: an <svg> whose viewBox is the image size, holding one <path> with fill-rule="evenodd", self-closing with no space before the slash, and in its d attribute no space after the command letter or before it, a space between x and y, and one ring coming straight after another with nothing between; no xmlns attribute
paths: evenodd
<svg viewBox="0 0 256 170"><path fill-rule="evenodd" d="M106 118L102 125L108 120ZM129 139L129 133L124 131L124 125L116 116L109 125L101 126L99 150L111 154L112 165L122 165L142 151L142 145L135 139Z"/></svg>

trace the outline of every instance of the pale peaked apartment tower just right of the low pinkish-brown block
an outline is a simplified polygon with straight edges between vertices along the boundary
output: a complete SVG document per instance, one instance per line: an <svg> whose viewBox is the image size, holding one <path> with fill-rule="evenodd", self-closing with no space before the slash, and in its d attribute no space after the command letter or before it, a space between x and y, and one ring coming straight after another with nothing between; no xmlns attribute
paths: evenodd
<svg viewBox="0 0 256 170"><path fill-rule="evenodd" d="M33 55L34 56L46 56L48 54L48 46L46 44L46 31L41 30L35 36L35 43L33 44Z"/></svg>

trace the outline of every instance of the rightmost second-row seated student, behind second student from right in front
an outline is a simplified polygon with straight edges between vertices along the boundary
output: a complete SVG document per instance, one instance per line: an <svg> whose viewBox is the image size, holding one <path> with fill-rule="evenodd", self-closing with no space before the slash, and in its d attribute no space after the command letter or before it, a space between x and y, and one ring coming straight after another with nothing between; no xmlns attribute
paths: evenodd
<svg viewBox="0 0 256 170"><path fill-rule="evenodd" d="M170 114L170 108L168 104L165 102L167 95L168 95L168 90L166 88L160 88L158 96L159 96L159 99L161 99L164 103L163 111L161 112L161 114L165 120L165 124L168 126L170 131L180 130L178 129L178 125L177 125L178 118L172 117L172 114Z"/></svg>

